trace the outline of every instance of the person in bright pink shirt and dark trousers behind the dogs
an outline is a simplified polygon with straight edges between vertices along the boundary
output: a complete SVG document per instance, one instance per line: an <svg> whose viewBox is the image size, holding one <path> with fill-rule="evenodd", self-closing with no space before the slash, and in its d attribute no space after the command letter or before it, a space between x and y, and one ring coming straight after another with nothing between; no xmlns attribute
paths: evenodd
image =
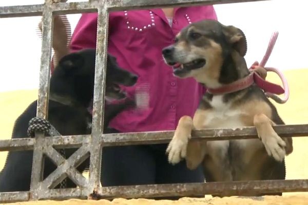
<svg viewBox="0 0 308 205"><path fill-rule="evenodd" d="M68 48L54 49L57 58L68 52L95 48L97 13L82 14ZM162 58L162 49L191 23L217 19L213 6L117 11L109 14L108 53L120 67L139 76L128 95L141 96L144 109L125 110L109 127L119 132L175 130L180 117L193 116L204 88L194 79L178 79ZM65 44L64 44L65 45ZM167 145L103 149L102 186L204 182L201 167L188 170L185 161L170 165Z"/></svg>

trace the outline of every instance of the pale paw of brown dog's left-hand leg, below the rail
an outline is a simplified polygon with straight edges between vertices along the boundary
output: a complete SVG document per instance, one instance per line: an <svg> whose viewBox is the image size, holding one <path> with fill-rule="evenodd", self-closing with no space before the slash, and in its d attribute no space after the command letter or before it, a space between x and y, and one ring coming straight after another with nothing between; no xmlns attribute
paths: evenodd
<svg viewBox="0 0 308 205"><path fill-rule="evenodd" d="M186 149L189 136L177 137L176 135L170 141L166 153L168 154L168 161L172 165L179 163L182 158L186 157Z"/></svg>

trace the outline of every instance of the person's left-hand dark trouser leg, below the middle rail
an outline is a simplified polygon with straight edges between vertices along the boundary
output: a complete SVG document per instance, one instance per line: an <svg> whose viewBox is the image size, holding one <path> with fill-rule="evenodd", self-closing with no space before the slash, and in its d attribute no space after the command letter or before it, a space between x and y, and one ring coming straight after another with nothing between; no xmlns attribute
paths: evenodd
<svg viewBox="0 0 308 205"><path fill-rule="evenodd" d="M155 156L146 145L103 147L101 183L107 186L155 183Z"/></svg>

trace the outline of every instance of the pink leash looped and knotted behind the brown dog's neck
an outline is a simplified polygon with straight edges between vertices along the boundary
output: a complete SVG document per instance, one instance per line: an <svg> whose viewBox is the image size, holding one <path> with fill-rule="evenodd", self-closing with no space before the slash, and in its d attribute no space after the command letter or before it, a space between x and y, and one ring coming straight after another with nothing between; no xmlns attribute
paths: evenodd
<svg viewBox="0 0 308 205"><path fill-rule="evenodd" d="M277 37L278 37L278 31L276 31L276 32L274 32L274 33L272 34L272 37L271 37L271 39L269 40L269 44L268 44L266 53L265 53L263 59L261 60L261 63L259 64L259 66L260 66L260 67L263 67L266 71L275 72L275 73L280 77L280 79L281 79L281 81L282 81L283 89L284 89L284 97L283 97L283 98L278 97L278 95L276 95L276 94L274 94L274 93L271 93L271 92L268 92L268 91L266 92L266 89L264 89L264 91L265 91L265 95L266 95L267 97L271 97L272 99L274 99L274 100L275 100L277 103L279 103L279 104L284 104L284 103L287 101L287 99L288 99L288 97L289 97L289 95L290 95L290 90L289 90L289 87L288 87L286 78L284 77L283 73L282 73L280 70L278 70L278 69L276 69L276 68L272 68L272 67L265 67L265 64L266 64L266 62L267 62L269 56L271 56L271 53L272 53L273 48L274 48L274 46L275 46ZM278 86L278 85L276 85L276 84L271 84L271 83L269 83L269 82L263 80L263 78L261 78L259 75L255 75L255 81L256 81L256 83L258 84L258 86L264 87L264 88L266 88L266 87L268 87L268 86L280 87L280 86ZM266 85L266 84L267 84L267 85ZM278 88L278 90L279 90L279 88ZM280 93L280 92L279 92L279 93ZM283 93L283 92L282 92L282 93ZM282 94L282 93L281 93L281 94Z"/></svg>

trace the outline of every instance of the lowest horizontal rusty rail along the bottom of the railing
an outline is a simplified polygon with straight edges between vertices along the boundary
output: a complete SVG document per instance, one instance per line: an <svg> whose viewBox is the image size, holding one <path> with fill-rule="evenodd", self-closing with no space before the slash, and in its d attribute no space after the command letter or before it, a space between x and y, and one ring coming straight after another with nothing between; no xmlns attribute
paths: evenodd
<svg viewBox="0 0 308 205"><path fill-rule="evenodd" d="M223 196L258 195L280 192L306 192L308 179L264 180L207 183L178 183L163 185L138 185L101 187L95 193L98 199L112 198L156 198L168 196L200 197L206 194ZM38 192L38 190L33 191ZM87 198L87 189L46 190L39 199ZM29 192L0 193L0 202L27 201ZM16 198L17 197L17 198Z"/></svg>

